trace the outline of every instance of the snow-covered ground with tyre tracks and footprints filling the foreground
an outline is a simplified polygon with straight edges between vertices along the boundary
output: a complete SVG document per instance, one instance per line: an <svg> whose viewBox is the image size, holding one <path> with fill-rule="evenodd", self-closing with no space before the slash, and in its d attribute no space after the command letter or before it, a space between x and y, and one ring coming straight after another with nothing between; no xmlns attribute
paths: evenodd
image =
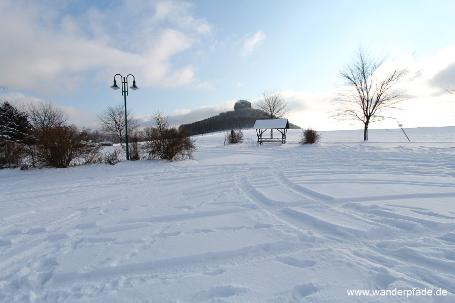
<svg viewBox="0 0 455 303"><path fill-rule="evenodd" d="M2 170L0 301L455 302L455 127L405 131Z"/></svg>

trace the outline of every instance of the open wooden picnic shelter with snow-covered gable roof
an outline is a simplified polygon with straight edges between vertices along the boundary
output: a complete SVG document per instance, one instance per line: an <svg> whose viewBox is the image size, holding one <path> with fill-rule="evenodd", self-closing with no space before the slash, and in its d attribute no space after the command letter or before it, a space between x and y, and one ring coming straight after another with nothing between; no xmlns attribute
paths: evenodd
<svg viewBox="0 0 455 303"><path fill-rule="evenodd" d="M257 144L265 142L281 142L281 144L286 143L286 131L289 129L288 119L269 119L269 120L256 120L254 123L253 129L256 130L257 134ZM267 135L264 136L266 130L270 130L270 137ZM274 129L278 132L275 132Z"/></svg>

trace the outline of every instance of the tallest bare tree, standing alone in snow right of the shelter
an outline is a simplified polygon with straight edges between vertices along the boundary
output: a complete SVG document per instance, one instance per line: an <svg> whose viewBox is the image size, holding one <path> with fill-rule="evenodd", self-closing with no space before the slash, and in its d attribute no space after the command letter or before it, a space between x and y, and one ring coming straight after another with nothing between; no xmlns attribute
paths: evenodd
<svg viewBox="0 0 455 303"><path fill-rule="evenodd" d="M348 87L334 99L336 108L332 118L361 121L364 126L363 140L368 140L370 123L389 118L384 116L384 111L398 109L398 103L411 98L406 93L407 89L400 85L408 80L410 71L406 68L379 70L385 60L371 58L359 46L356 57L340 71Z"/></svg>

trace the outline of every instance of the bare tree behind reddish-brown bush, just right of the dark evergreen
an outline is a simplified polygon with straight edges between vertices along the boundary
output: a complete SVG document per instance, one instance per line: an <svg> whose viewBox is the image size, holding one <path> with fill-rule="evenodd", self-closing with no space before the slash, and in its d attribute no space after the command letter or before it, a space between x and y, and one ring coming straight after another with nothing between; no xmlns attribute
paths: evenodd
<svg viewBox="0 0 455 303"><path fill-rule="evenodd" d="M62 127L68 121L68 115L55 107L52 102L39 101L38 104L29 104L24 107L24 112L35 130Z"/></svg>

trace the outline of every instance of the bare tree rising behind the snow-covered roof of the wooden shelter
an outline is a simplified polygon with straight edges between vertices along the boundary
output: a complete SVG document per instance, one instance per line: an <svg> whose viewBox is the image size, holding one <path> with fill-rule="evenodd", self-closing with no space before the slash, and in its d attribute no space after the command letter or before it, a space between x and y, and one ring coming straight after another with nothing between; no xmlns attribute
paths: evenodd
<svg viewBox="0 0 455 303"><path fill-rule="evenodd" d="M289 115L288 104L277 89L264 90L257 107L268 119L280 119Z"/></svg>

